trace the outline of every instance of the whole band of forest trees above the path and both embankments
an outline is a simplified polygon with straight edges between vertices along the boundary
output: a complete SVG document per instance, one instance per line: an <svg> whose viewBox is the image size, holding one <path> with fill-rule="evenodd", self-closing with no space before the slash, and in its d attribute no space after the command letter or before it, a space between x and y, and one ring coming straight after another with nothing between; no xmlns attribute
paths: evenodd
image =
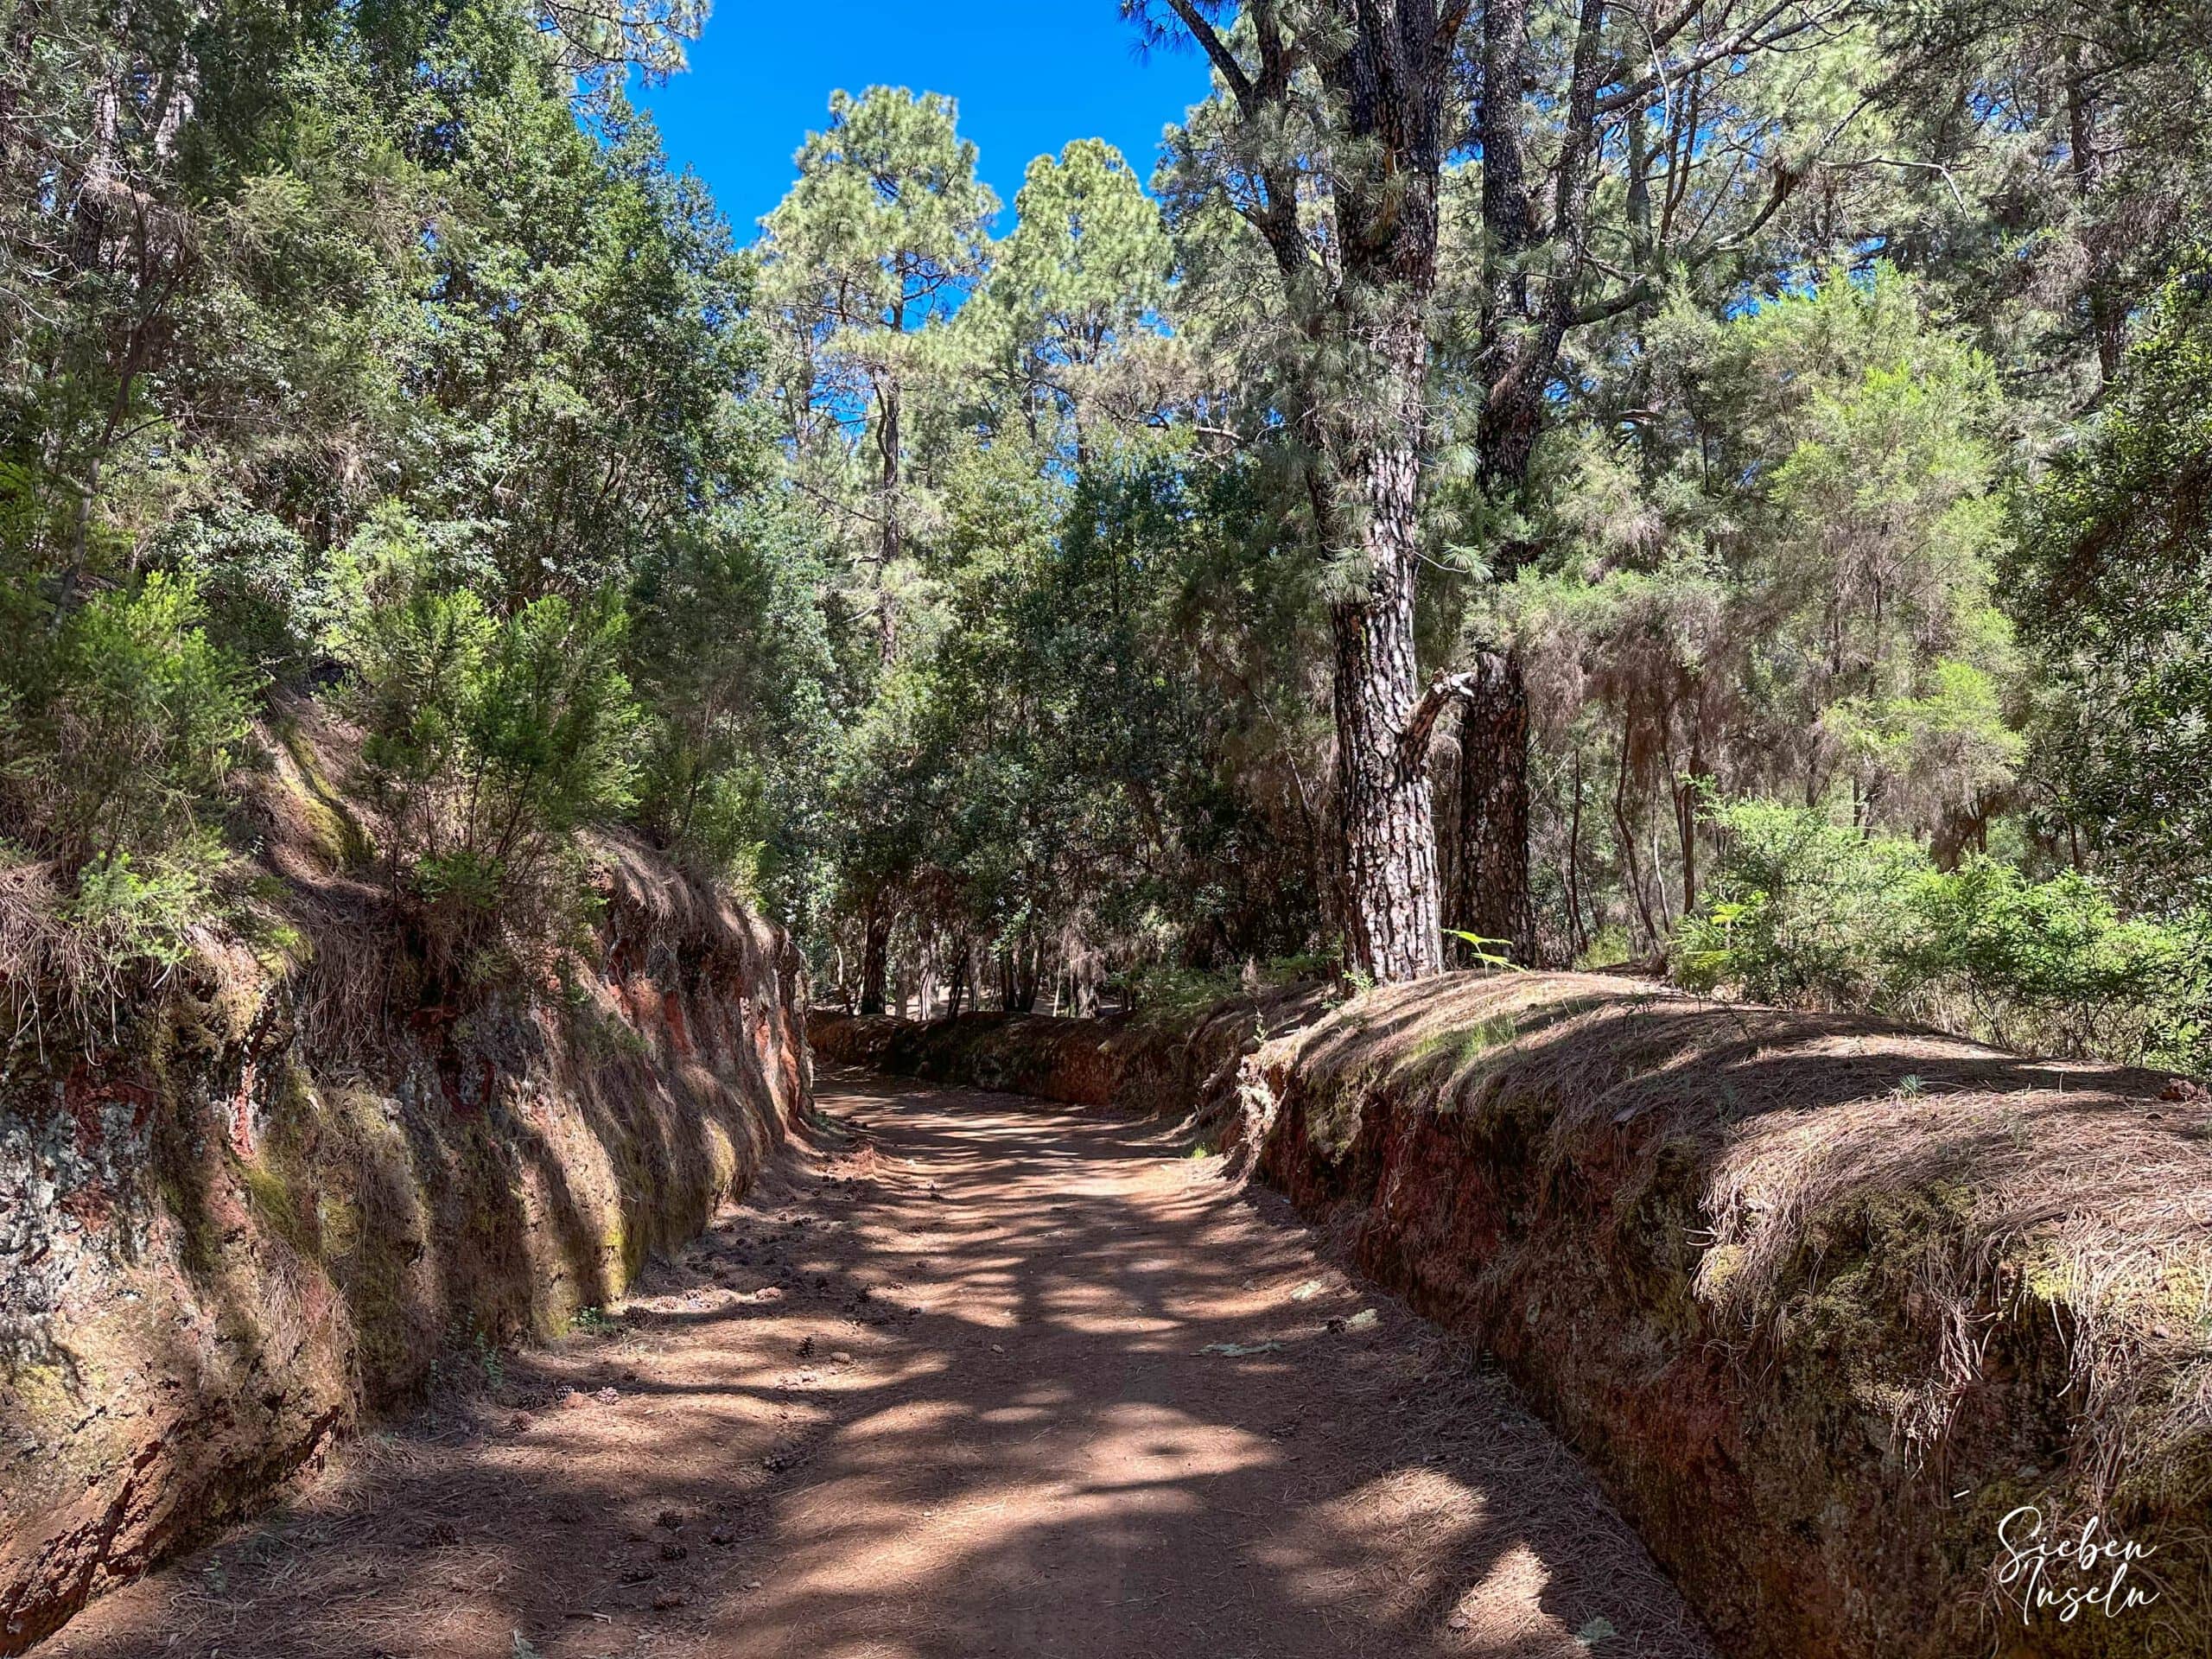
<svg viewBox="0 0 2212 1659"><path fill-rule="evenodd" d="M869 1009L1469 936L2188 1051L2208 18L1124 11L1159 157L825 88L748 243L686 4L0 2L11 987L248 905L312 701L453 995L619 821Z"/></svg>

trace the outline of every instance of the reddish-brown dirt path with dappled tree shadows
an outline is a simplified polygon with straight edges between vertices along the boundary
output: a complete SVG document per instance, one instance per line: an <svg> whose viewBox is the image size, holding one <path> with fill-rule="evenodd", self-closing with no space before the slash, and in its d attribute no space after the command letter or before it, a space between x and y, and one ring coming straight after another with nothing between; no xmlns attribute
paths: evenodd
<svg viewBox="0 0 2212 1659"><path fill-rule="evenodd" d="M1495 1378L1159 1124L821 1104L613 1329L40 1659L1708 1655Z"/></svg>

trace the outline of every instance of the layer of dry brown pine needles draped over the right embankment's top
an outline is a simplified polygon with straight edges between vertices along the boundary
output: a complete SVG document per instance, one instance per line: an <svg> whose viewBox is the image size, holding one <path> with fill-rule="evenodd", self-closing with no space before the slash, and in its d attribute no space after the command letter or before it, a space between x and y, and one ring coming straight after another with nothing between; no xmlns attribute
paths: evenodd
<svg viewBox="0 0 2212 1659"><path fill-rule="evenodd" d="M1378 993L1290 1044L1310 1084L1416 1077L1438 1110L1540 1091L1553 1168L1644 1117L1694 1137L1697 1294L1745 1343L1787 1318L1834 1217L1924 1201L1902 1219L1924 1232L1942 1363L1893 1402L1916 1462L1973 1385L1986 1325L2024 1298L2064 1316L2088 1498L2205 1449L2212 1108L2181 1079L1593 975Z"/></svg>

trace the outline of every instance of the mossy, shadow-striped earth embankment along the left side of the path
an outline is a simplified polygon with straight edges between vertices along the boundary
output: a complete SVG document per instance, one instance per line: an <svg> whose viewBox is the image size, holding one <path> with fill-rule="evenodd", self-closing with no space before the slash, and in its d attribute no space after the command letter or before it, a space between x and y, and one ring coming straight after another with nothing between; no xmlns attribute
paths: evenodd
<svg viewBox="0 0 2212 1659"><path fill-rule="evenodd" d="M0 1652L617 1294L807 1106L790 942L637 845L595 847L564 984L467 1013L378 1004L349 883L288 854L314 969L212 942L135 1035L18 1055L0 1099Z"/></svg>

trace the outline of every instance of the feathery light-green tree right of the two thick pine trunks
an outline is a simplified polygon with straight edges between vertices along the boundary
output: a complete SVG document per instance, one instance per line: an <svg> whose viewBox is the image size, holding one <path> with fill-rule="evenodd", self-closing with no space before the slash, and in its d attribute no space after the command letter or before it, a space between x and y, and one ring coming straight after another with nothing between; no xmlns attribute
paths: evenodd
<svg viewBox="0 0 2212 1659"><path fill-rule="evenodd" d="M1858 823L1955 849L2024 750L1997 387L1924 283L1834 268L1734 316L1681 301L1644 347L1648 407L1562 436L1553 551L1495 604L1557 757L1537 856L1579 865L1553 878L1564 958L1606 927L1666 942L1710 783L1843 792Z"/></svg>

